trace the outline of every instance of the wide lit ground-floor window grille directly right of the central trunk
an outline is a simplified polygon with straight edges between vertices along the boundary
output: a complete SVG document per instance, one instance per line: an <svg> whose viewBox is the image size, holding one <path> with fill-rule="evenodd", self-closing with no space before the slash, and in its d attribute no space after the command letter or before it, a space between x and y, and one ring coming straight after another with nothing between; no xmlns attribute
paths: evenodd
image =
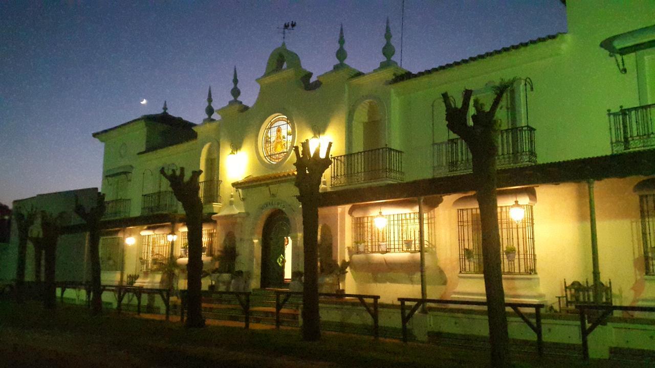
<svg viewBox="0 0 655 368"><path fill-rule="evenodd" d="M388 253L420 250L418 212L395 213L384 217L386 226L382 230L375 227L375 216L353 218L352 239L353 242L364 243L364 253L382 252L381 243L386 243ZM426 240L432 233L432 227L434 227L432 212L425 213L423 229Z"/></svg>

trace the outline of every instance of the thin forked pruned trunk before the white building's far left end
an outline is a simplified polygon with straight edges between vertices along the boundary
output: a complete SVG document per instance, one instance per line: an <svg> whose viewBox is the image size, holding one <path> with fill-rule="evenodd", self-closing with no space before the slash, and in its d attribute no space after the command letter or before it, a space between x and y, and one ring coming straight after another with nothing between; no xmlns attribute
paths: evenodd
<svg viewBox="0 0 655 368"><path fill-rule="evenodd" d="M75 198L75 213L86 223L88 230L88 255L91 263L91 315L102 314L102 290L100 286L100 221L105 215L105 194L98 193L96 206L88 211Z"/></svg>

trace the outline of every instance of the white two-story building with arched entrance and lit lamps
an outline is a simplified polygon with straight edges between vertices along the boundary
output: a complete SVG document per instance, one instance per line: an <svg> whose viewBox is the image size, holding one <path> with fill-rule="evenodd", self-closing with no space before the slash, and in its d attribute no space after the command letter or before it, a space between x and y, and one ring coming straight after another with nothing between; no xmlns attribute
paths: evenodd
<svg viewBox="0 0 655 368"><path fill-rule="evenodd" d="M394 62L388 26L379 68L368 72L346 64L343 33L337 63L316 78L283 44L262 60L250 107L238 100L235 69L233 100L214 111L210 94L199 124L164 105L96 132L105 143L103 282L140 274L138 284L155 285L168 259L185 263L183 210L159 174L184 167L203 170L207 267L234 246L251 287L284 287L303 268L292 147L312 139L322 149L333 142L320 258L350 261L347 292L387 303L420 296L422 228L428 297L483 299L470 153L446 128L441 94L460 103L470 88L488 105L493 86L514 79L496 115L507 299L557 308L565 279L593 282L596 271L613 303L654 304L652 14L650 2L569 2L568 33L421 73Z"/></svg>

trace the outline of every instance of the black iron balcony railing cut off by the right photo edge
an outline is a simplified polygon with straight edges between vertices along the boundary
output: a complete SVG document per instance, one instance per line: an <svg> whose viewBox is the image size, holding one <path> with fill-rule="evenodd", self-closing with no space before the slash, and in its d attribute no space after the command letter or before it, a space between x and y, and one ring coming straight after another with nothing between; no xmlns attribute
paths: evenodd
<svg viewBox="0 0 655 368"><path fill-rule="evenodd" d="M616 113L607 110L612 153L655 147L654 115L655 103L629 109L621 106Z"/></svg>

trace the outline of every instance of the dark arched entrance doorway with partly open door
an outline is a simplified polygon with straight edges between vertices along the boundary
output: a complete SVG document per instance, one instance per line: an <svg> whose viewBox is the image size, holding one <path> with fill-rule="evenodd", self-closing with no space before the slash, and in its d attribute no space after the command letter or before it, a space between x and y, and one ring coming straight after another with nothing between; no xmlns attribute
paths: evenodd
<svg viewBox="0 0 655 368"><path fill-rule="evenodd" d="M261 232L261 287L284 286L285 270L291 267L291 223L281 210L274 210Z"/></svg>

